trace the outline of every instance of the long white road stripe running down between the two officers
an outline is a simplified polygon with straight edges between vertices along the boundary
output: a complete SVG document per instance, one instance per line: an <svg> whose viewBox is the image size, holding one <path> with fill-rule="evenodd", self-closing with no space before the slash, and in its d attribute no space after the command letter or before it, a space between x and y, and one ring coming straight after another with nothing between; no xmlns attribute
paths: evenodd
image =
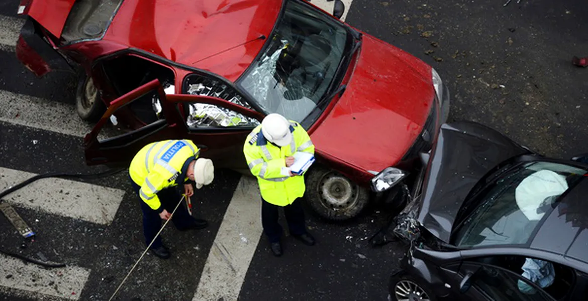
<svg viewBox="0 0 588 301"><path fill-rule="evenodd" d="M193 301L236 301L262 234L259 188L241 177L202 270Z"/></svg>

